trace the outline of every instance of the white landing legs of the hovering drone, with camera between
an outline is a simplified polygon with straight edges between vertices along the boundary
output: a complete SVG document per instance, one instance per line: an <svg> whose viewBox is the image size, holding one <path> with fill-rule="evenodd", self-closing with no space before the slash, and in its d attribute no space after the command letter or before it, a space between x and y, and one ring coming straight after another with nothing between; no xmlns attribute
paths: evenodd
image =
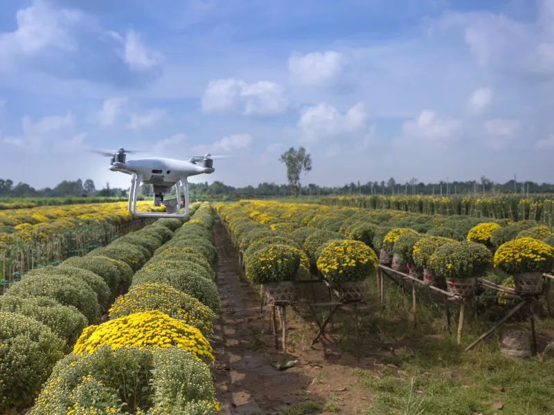
<svg viewBox="0 0 554 415"><path fill-rule="evenodd" d="M154 189L154 206L164 205L166 212L136 212L136 197L139 193L139 185L141 185L142 176L132 174L131 176L131 188L129 189L129 203L127 204L127 210L136 216L142 217L155 217L155 218L183 218L188 214L188 181L187 177L181 177L181 180L175 183L177 188L177 197L163 200L164 192L157 192L158 189ZM179 213L181 200L181 186L183 187L183 194L185 199L185 212ZM157 186L154 186L157 187ZM168 187L170 189L170 187ZM165 189L164 189L165 190Z"/></svg>

